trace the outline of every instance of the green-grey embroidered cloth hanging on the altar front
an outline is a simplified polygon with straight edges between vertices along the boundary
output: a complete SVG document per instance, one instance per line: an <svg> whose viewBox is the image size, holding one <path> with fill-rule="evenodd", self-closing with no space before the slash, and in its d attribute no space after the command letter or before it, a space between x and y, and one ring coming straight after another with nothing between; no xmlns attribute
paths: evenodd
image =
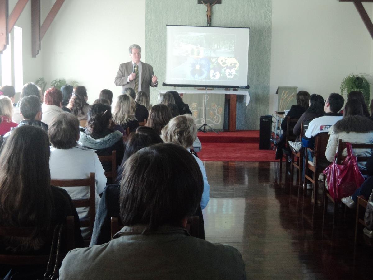
<svg viewBox="0 0 373 280"><path fill-rule="evenodd" d="M205 94L183 94L183 101L189 105L197 127L205 123ZM206 94L206 124L216 130L223 130L224 94Z"/></svg>

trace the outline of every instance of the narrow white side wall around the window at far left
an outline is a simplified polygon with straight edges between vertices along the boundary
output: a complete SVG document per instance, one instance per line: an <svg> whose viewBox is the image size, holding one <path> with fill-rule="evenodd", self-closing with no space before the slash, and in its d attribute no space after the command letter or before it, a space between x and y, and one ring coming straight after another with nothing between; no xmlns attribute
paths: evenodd
<svg viewBox="0 0 373 280"><path fill-rule="evenodd" d="M9 0L9 15L17 1ZM35 58L31 56L31 1L28 1L15 25L22 28L23 84L34 83L38 78L43 77L43 53L40 52Z"/></svg>

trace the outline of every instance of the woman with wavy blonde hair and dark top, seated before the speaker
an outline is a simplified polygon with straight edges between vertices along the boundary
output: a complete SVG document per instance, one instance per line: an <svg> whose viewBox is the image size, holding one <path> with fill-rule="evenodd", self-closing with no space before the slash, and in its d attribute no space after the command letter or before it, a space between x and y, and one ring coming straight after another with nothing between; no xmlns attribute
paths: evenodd
<svg viewBox="0 0 373 280"><path fill-rule="evenodd" d="M135 111L135 100L127 94L121 94L115 104L113 121L117 125L122 125L124 130L129 127L129 132L135 131L139 127L139 122L135 118Z"/></svg>

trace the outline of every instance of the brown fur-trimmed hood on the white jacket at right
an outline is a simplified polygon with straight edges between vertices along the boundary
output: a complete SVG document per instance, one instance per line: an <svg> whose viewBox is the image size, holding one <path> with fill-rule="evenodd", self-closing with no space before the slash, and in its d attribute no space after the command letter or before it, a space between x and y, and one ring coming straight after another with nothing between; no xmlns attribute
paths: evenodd
<svg viewBox="0 0 373 280"><path fill-rule="evenodd" d="M368 133L373 131L373 121L365 116L346 116L333 125L334 131Z"/></svg>

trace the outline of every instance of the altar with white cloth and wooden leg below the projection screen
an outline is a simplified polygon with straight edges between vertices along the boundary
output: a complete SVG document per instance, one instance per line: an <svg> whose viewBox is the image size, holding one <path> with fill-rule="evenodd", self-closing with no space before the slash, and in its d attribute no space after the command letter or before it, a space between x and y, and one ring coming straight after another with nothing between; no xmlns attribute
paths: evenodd
<svg viewBox="0 0 373 280"><path fill-rule="evenodd" d="M200 127L204 124L205 90L176 90L189 105L192 116ZM160 90L158 100L167 90ZM207 90L206 96L206 124L214 130L223 131L224 116L228 116L228 131L236 131L236 99L237 95L244 95L244 102L248 105L250 95L246 90ZM225 106L228 105L228 106ZM228 112L226 112L228 111Z"/></svg>

